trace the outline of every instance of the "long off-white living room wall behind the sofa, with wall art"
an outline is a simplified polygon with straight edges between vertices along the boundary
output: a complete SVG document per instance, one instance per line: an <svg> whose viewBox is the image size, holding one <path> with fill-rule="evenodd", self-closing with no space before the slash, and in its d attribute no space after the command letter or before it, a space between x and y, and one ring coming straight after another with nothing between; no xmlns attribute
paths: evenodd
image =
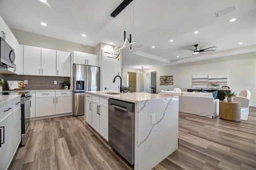
<svg viewBox="0 0 256 170"><path fill-rule="evenodd" d="M156 67L147 71L158 71L157 91L179 87L186 91L192 87L193 74L228 73L228 86L237 95L243 89L251 92L250 106L256 107L256 53L244 53L216 59ZM173 85L159 85L159 77L173 75Z"/></svg>

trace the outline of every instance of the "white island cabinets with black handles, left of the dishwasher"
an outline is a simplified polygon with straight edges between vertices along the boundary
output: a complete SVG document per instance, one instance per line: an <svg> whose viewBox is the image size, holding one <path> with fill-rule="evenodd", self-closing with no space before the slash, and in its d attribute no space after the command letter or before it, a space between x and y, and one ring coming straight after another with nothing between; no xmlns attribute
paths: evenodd
<svg viewBox="0 0 256 170"><path fill-rule="evenodd" d="M92 99L98 100L92 101ZM108 105L106 104L108 98L92 95L92 99L86 98L86 122L108 140Z"/></svg>

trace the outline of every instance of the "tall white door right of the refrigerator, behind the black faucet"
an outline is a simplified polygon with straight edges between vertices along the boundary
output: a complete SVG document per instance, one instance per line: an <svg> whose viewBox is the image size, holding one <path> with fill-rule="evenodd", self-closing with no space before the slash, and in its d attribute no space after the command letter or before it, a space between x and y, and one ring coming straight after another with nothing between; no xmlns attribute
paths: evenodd
<svg viewBox="0 0 256 170"><path fill-rule="evenodd" d="M114 77L119 73L119 60L114 58L113 55L107 52L104 53L104 59L102 62L102 90L114 90L118 91L120 87L120 79L117 77L116 82L113 83Z"/></svg>

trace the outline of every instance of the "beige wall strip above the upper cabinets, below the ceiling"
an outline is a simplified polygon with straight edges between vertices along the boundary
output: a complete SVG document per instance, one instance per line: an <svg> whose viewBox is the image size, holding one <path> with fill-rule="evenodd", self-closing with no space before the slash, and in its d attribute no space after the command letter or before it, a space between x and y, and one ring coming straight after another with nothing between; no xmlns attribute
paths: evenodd
<svg viewBox="0 0 256 170"><path fill-rule="evenodd" d="M10 30L14 34L15 38L18 40L19 44L22 45L56 49L59 51L80 51L84 53L94 54L94 47L85 47L79 43L68 42L65 40L42 36L31 32L16 30L14 28L10 28Z"/></svg>

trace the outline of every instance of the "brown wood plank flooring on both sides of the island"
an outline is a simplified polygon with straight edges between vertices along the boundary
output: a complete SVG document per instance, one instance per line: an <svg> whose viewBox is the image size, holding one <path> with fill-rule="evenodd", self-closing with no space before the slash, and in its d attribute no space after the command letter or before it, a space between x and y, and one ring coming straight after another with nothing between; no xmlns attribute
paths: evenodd
<svg viewBox="0 0 256 170"><path fill-rule="evenodd" d="M247 121L228 122L179 114L179 147L154 170L256 169L256 108ZM12 170L126 170L128 165L84 116L33 121Z"/></svg>

